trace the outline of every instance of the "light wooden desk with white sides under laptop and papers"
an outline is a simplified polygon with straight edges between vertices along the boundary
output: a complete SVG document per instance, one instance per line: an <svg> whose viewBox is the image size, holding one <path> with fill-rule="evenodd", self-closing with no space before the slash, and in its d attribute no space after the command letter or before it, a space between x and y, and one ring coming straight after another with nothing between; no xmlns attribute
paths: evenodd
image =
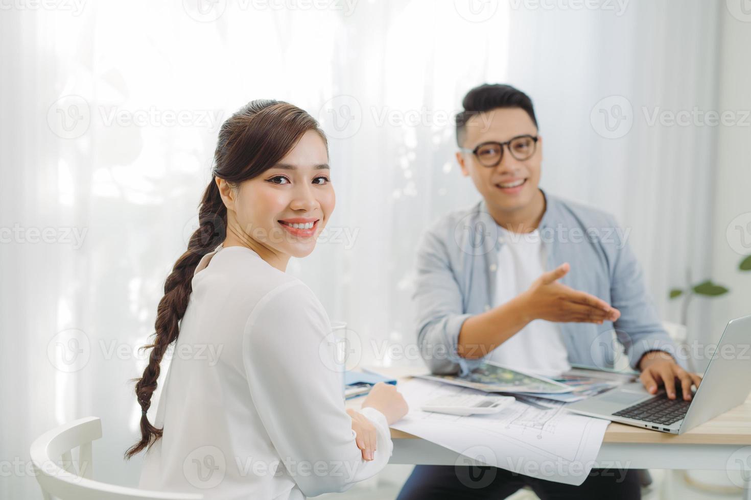
<svg viewBox="0 0 751 500"><path fill-rule="evenodd" d="M384 370L385 371L385 370ZM410 377L400 377L406 382ZM731 390L731 388L728 388ZM359 408L361 400L348 401ZM466 465L466 457L400 430L391 430L394 454L389 463ZM751 500L751 397L746 403L679 435L611 423L605 431L596 467L628 469L740 470ZM737 481L737 480L736 480Z"/></svg>

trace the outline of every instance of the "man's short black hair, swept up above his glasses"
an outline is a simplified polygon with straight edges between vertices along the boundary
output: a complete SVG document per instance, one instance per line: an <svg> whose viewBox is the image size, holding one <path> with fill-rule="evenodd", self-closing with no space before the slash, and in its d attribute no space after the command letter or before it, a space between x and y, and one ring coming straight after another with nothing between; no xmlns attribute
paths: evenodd
<svg viewBox="0 0 751 500"><path fill-rule="evenodd" d="M526 111L532 123L537 127L535 109L532 107L532 99L527 94L511 85L500 83L484 83L472 88L462 100L464 110L457 113L457 144L462 145L466 135L466 124L469 118L481 112L497 108L521 108Z"/></svg>

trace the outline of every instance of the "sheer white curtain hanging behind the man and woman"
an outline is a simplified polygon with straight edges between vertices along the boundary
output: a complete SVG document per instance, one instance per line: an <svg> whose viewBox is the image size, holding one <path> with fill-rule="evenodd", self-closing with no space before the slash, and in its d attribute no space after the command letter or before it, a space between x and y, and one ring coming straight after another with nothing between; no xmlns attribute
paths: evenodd
<svg viewBox="0 0 751 500"><path fill-rule="evenodd" d="M195 223L219 123L254 98L295 103L330 133L330 232L289 272L357 332L363 363L410 361L376 355L414 341L424 226L477 199L451 116L481 82L529 92L543 186L632 228L666 317L668 287L707 268L712 130L650 127L641 108L713 106L709 2L620 15L463 0L14 5L0 15L0 460L20 464L4 498L38 495L30 442L85 415L104 421L98 478L136 481L140 460L121 460L137 433L136 347ZM590 120L612 95L634 112L616 139Z"/></svg>

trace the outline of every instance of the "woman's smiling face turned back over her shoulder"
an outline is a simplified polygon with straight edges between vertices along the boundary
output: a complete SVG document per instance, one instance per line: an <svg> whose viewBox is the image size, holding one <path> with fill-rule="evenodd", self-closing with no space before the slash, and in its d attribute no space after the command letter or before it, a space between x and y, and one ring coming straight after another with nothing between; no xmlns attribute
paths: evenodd
<svg viewBox="0 0 751 500"><path fill-rule="evenodd" d="M228 234L277 256L309 255L336 203L324 140L308 130L285 157L241 182L235 193Z"/></svg>

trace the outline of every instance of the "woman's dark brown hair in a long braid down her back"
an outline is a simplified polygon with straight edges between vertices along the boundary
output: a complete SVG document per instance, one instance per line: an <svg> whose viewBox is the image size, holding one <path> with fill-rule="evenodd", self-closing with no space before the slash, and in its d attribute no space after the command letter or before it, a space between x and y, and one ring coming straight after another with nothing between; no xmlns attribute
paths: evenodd
<svg viewBox="0 0 751 500"><path fill-rule="evenodd" d="M144 448L151 448L164 431L150 424L146 417L159 377L159 363L167 347L177 340L179 321L188 307L198 262L226 237L227 208L219 195L216 178L237 186L261 175L285 157L308 130L318 132L326 144L318 122L307 112L289 103L266 99L247 103L222 124L211 182L198 206L198 229L190 238L188 250L177 259L164 282L164 297L159 301L156 314L155 340L141 348L152 349L143 376L133 379L141 407L141 439L125 451L126 459Z"/></svg>

